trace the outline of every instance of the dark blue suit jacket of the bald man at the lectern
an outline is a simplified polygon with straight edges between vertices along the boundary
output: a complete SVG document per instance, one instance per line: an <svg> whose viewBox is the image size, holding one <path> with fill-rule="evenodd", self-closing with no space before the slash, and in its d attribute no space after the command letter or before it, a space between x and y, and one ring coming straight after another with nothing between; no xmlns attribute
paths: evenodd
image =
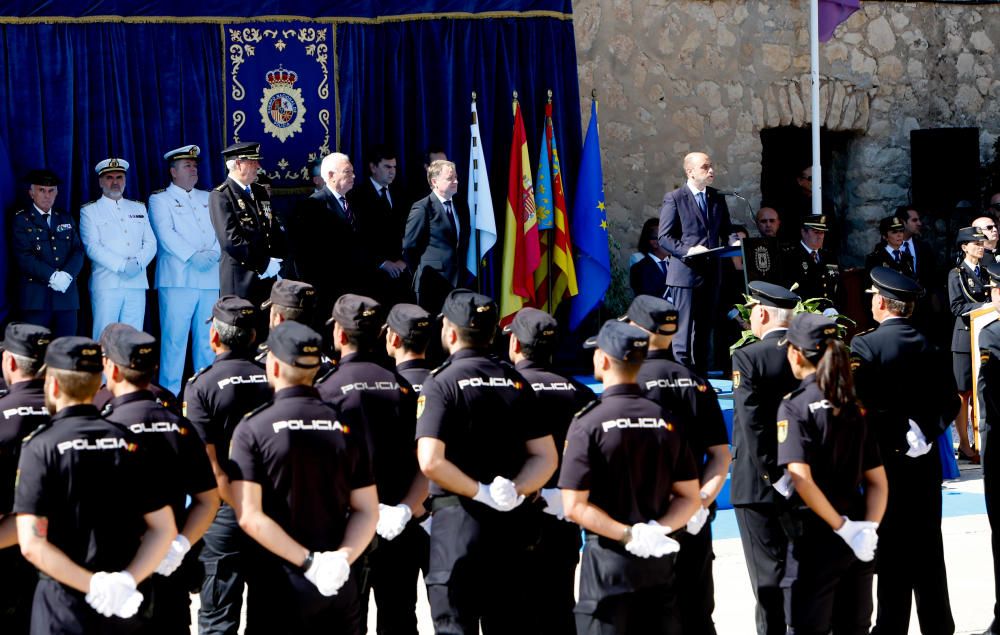
<svg viewBox="0 0 1000 635"><path fill-rule="evenodd" d="M705 206L707 218L686 183L663 197L659 241L671 255L667 268L667 285L671 287L697 287L705 282L715 284L719 280L721 267L718 258L707 256L684 261L691 247L722 247L732 233L729 207L718 190L712 187L706 189Z"/></svg>

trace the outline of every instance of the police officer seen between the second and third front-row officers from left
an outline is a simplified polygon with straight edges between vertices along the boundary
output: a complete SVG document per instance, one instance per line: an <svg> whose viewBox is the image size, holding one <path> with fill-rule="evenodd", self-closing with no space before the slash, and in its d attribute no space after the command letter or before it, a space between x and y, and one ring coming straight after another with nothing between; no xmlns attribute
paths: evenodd
<svg viewBox="0 0 1000 635"><path fill-rule="evenodd" d="M364 422L358 436L367 441L378 486L379 539L356 567L361 612L367 614L373 590L379 631L415 634L417 572L428 557L427 534L419 527L427 477L413 442L417 397L405 379L372 361L382 326L378 302L344 294L334 303L330 322L340 363L316 387L339 412Z"/></svg>

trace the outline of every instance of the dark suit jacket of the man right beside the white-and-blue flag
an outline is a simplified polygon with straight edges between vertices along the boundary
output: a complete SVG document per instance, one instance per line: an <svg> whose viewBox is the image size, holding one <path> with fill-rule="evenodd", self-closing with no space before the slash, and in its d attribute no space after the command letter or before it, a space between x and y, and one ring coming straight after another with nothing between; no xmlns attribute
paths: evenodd
<svg viewBox="0 0 1000 635"><path fill-rule="evenodd" d="M403 259L413 272L413 290L417 293L418 300L421 287L426 284L439 286L443 281L452 288L458 286L461 272L465 268L465 254L469 247L469 215L458 198L452 198L452 204L459 220L457 233L444 205L433 192L410 208L406 234L403 236ZM440 307L434 310L437 309Z"/></svg>

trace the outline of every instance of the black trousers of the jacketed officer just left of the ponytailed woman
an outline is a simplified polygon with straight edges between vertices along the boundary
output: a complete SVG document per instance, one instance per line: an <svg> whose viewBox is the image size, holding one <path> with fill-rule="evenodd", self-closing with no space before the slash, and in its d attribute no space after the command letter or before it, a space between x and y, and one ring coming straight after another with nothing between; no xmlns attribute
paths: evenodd
<svg viewBox="0 0 1000 635"><path fill-rule="evenodd" d="M778 507L766 503L741 505L733 511L740 528L750 588L757 600L754 612L757 635L784 635L785 599L781 578L785 575L788 536L781 527Z"/></svg>

